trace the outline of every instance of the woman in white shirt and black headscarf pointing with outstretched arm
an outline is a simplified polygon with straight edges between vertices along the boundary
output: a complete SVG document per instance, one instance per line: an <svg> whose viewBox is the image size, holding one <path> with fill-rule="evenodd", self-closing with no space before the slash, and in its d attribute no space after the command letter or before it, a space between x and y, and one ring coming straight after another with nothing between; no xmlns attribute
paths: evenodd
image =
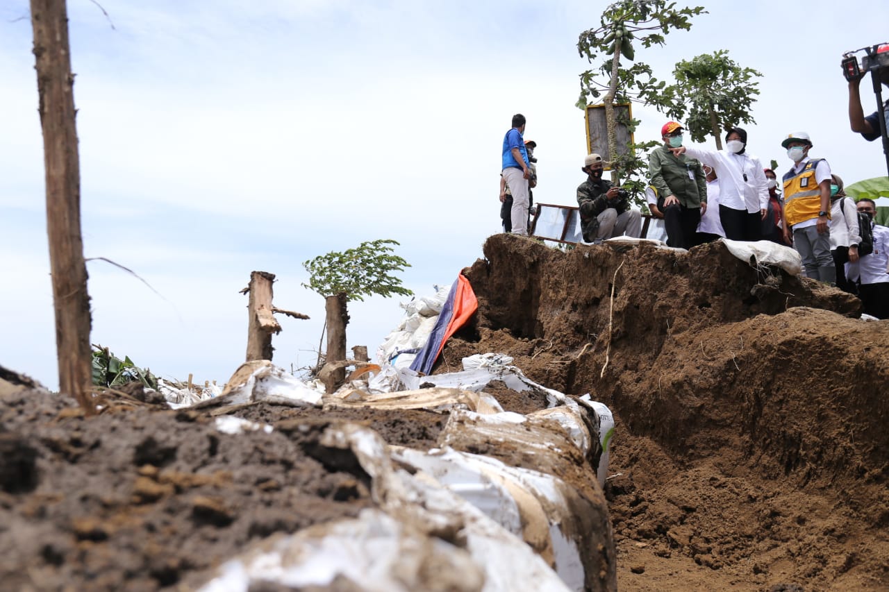
<svg viewBox="0 0 889 592"><path fill-rule="evenodd" d="M719 220L725 237L733 241L758 241L760 223L769 205L769 189L763 165L747 152L747 132L733 127L725 134L719 151L693 146L673 148L708 165L719 178Z"/></svg>

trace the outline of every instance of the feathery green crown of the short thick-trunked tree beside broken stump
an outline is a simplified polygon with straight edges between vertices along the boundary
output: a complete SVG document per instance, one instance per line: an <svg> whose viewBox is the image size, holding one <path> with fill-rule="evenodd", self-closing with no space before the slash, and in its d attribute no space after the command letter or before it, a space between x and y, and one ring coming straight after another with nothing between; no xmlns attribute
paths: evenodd
<svg viewBox="0 0 889 592"><path fill-rule="evenodd" d="M391 239L365 241L355 249L304 261L302 267L310 277L308 284L302 285L324 297L343 293L347 300L364 300L364 296L372 294L387 298L393 294L411 296L413 292L403 288L401 280L392 275L411 267L393 254L392 244L398 243Z"/></svg>

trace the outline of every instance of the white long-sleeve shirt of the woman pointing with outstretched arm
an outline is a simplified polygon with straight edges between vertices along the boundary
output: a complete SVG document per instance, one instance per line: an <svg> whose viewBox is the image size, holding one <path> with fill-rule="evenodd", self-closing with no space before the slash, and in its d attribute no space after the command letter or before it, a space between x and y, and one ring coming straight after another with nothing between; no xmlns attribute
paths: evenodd
<svg viewBox="0 0 889 592"><path fill-rule="evenodd" d="M733 210L759 213L769 206L769 186L763 164L756 156L734 154L728 150L685 147L685 154L697 158L717 172L719 203ZM747 180L744 180L747 175Z"/></svg>

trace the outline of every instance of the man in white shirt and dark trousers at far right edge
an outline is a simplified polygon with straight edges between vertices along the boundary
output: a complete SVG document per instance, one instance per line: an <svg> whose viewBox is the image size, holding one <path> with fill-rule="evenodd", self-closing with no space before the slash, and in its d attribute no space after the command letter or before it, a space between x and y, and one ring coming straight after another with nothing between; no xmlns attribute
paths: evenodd
<svg viewBox="0 0 889 592"><path fill-rule="evenodd" d="M889 318L889 228L873 223L877 206L873 200L858 201L858 211L868 214L874 234L874 252L861 255L856 263L845 264L850 281L860 281L858 294L864 312L877 318Z"/></svg>

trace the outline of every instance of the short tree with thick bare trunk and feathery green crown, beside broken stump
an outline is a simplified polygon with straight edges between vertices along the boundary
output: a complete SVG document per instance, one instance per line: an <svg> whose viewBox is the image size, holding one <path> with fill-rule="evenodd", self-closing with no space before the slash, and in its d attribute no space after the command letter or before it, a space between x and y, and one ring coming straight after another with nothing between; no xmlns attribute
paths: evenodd
<svg viewBox="0 0 889 592"><path fill-rule="evenodd" d="M394 273L411 265L397 256L392 248L397 241L378 239L365 241L354 249L344 252L328 252L313 260L303 262L308 271L309 290L324 296L325 327L327 331L327 364L346 359L346 325L348 324L348 300L364 300L364 296L378 294L389 298L393 294L411 296L401 279ZM328 392L345 378L345 367L340 367L324 380Z"/></svg>

